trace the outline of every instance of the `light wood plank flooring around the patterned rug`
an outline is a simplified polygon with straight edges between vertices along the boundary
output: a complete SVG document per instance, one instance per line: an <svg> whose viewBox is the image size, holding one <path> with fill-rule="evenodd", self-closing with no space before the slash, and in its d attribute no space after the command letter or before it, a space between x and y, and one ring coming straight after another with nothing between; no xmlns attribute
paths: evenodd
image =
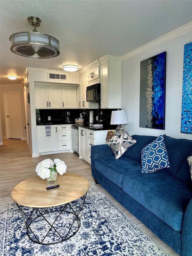
<svg viewBox="0 0 192 256"><path fill-rule="evenodd" d="M3 145L0 146L0 197L10 196L11 190L21 181L33 176L37 176L35 172L36 165L45 158L54 160L59 158L67 164L67 172L77 173L86 177L94 184L91 175L91 166L83 159L78 157L76 153L60 153L53 155L43 155L38 158L32 158L28 145L25 140L4 139ZM151 232L143 223L135 218L127 209L119 204L101 185L98 188L110 200L124 212L140 229L142 229L156 244L158 244L169 256L178 256L172 248L159 239ZM117 255L118 256L118 255Z"/></svg>

